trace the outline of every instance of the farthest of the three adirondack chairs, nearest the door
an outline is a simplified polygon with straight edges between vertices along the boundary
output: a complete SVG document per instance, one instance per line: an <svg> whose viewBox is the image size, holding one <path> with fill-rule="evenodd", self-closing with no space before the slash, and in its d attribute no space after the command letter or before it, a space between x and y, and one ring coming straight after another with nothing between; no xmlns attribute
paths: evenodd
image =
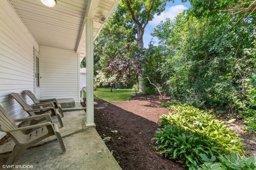
<svg viewBox="0 0 256 170"><path fill-rule="evenodd" d="M23 93L25 93L26 95L28 95L35 104L45 104L45 103L53 103L54 104L54 108L55 109L59 109L59 112L61 114L61 116L63 117L63 111L61 108L61 105L58 103L57 99L37 99L36 96L33 94L33 92L31 92L30 90L24 90Z"/></svg>

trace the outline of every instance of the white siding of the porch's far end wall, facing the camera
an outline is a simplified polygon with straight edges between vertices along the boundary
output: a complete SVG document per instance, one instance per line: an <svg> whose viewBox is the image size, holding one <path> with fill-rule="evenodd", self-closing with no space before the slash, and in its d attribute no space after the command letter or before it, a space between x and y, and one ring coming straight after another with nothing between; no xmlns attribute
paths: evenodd
<svg viewBox="0 0 256 170"><path fill-rule="evenodd" d="M79 61L74 50L40 46L41 98L79 100Z"/></svg>

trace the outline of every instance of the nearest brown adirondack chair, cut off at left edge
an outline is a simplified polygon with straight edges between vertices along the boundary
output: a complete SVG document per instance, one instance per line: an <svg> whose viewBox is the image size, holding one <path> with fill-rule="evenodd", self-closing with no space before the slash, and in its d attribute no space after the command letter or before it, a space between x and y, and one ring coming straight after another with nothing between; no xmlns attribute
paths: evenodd
<svg viewBox="0 0 256 170"><path fill-rule="evenodd" d="M24 126L21 128L17 128L17 125L15 125L15 122L31 121L37 118L46 118L47 122ZM29 134L24 134L21 132L23 130L34 128L38 129ZM30 146L35 145L35 143L47 137L50 137L51 135L56 135L60 144L62 154L66 152L66 148L62 141L58 125L53 124L50 114L41 114L36 116L29 116L26 118L13 119L5 112L4 108L0 105L0 131L9 134L9 137L11 137L15 142L15 147L13 148L13 151L7 159L7 165L12 165L15 161L17 161L18 157L21 156L23 151L25 151Z"/></svg>

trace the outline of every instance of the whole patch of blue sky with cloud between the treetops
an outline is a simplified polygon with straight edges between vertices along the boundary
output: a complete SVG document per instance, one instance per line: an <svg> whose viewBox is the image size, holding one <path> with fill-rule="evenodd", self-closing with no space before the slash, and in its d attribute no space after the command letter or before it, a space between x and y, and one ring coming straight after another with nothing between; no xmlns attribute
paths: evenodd
<svg viewBox="0 0 256 170"><path fill-rule="evenodd" d="M148 23L145 28L145 33L143 36L144 47L148 47L150 40L153 38L155 41L155 45L158 44L158 39L156 37L152 37L150 33L152 30L158 25L161 21L165 21L166 18L170 18L173 20L175 16L177 16L183 10L186 10L190 7L189 2L182 3L180 0L175 1L174 3L168 2L165 7L165 11L161 13L161 15L154 16L154 19Z"/></svg>

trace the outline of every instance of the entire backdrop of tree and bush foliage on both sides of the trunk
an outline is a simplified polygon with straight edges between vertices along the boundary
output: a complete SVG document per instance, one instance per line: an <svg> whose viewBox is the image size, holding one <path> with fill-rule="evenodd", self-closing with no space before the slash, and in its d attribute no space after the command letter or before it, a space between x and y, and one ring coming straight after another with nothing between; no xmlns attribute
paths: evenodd
<svg viewBox="0 0 256 170"><path fill-rule="evenodd" d="M139 24L134 22L127 2ZM221 109L236 118L246 118L246 124L253 126L256 2L190 0L189 10L154 29L152 35L159 44L141 49L138 30L143 30L154 14L160 14L166 2L118 4L94 42L95 75L100 73L95 80L104 86L113 81L135 84L140 75L146 94L160 90L199 108Z"/></svg>

